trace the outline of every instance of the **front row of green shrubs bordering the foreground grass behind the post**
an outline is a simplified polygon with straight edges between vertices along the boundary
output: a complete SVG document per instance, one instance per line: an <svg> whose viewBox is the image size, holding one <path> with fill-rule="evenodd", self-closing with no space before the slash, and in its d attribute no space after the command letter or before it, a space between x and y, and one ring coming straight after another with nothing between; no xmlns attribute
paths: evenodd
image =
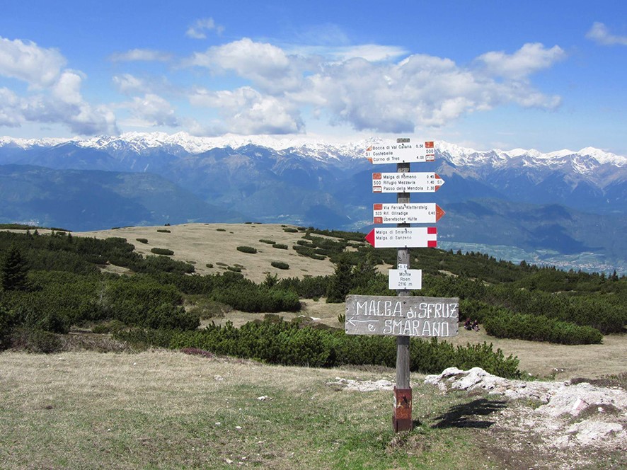
<svg viewBox="0 0 627 470"><path fill-rule="evenodd" d="M249 322L241 328L212 324L201 331L164 330L120 331L115 338L134 344L165 348L197 348L218 355L250 357L270 364L309 367L343 365L396 366L396 339L388 336L346 335L304 326L306 322L287 322L266 316L263 321ZM447 367L481 367L501 377L520 377L516 357L505 357L492 345L453 346L447 342L410 341L410 364L413 372L439 373Z"/></svg>

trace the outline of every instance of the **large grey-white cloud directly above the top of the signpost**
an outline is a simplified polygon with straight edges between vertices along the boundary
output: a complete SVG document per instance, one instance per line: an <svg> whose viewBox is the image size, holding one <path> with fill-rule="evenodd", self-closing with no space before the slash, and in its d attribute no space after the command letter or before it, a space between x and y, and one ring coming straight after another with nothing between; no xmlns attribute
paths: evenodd
<svg viewBox="0 0 627 470"><path fill-rule="evenodd" d="M552 109L560 102L535 91L527 81L497 81L450 59L427 55L412 55L398 64L352 59L328 65L288 96L326 112L332 122L379 132L439 127L507 103Z"/></svg>

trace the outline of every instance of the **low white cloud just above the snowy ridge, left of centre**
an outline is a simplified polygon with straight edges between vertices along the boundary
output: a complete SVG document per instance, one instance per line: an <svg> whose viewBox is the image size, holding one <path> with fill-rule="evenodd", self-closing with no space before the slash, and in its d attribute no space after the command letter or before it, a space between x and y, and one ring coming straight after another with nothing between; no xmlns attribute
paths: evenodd
<svg viewBox="0 0 627 470"><path fill-rule="evenodd" d="M199 89L190 96L190 103L217 108L224 118L223 132L293 134L300 132L303 126L297 108L289 102L264 96L248 86L234 91Z"/></svg>

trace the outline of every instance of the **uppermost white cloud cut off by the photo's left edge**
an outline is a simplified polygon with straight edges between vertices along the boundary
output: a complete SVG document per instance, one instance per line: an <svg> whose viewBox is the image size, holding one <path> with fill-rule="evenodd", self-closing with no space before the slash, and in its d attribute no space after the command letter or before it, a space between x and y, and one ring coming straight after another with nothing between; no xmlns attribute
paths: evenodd
<svg viewBox="0 0 627 470"><path fill-rule="evenodd" d="M49 86L57 79L65 62L56 49L0 37L0 76L26 81L35 87Z"/></svg>

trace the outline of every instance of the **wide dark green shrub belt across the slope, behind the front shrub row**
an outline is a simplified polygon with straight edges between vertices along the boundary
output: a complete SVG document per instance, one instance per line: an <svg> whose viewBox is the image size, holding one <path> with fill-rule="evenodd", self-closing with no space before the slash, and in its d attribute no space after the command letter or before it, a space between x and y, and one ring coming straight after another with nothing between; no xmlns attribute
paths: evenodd
<svg viewBox="0 0 627 470"><path fill-rule="evenodd" d="M277 312L299 311L301 298L344 302L349 293L395 293L379 272L381 263L396 263L395 250L374 250L357 243L355 234L328 233L345 239L331 240L306 229L298 246L333 260L333 275L282 280L268 275L256 284L239 273L194 275L193 265L167 256L140 256L118 237L0 231L0 347L8 345L9 332L20 325L64 333L73 325L115 320L127 327L192 331L199 319L183 308L190 296L241 311ZM616 273L514 265L481 253L432 248L411 256L413 267L423 270L423 288L414 294L459 297L461 319L485 323L495 336L599 343L601 333L621 333L627 323L627 281ZM99 267L106 263L136 274L101 273Z"/></svg>

